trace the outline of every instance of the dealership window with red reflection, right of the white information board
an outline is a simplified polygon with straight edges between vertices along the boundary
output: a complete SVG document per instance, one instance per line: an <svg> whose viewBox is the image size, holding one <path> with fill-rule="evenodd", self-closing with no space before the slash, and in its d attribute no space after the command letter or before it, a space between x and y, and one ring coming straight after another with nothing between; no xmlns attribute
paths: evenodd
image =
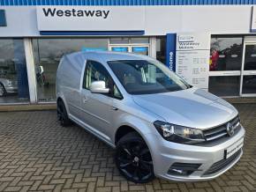
<svg viewBox="0 0 256 192"><path fill-rule="evenodd" d="M219 96L238 96L242 60L243 37L212 36L209 92Z"/></svg>

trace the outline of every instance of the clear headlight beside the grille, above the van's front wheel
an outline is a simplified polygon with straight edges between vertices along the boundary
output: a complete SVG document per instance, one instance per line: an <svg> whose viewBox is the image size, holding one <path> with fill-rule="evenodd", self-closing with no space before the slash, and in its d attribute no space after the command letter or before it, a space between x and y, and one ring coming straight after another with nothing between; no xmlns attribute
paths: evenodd
<svg viewBox="0 0 256 192"><path fill-rule="evenodd" d="M154 122L154 127L164 139L171 142L197 144L206 141L200 129L187 128L161 121Z"/></svg>

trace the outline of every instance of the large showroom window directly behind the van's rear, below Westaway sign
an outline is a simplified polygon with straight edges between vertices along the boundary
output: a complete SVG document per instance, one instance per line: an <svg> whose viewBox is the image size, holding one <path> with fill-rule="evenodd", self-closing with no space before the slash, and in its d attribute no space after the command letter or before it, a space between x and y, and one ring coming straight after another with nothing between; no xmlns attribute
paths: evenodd
<svg viewBox="0 0 256 192"><path fill-rule="evenodd" d="M56 70L61 57L75 51L108 50L108 39L34 39L34 63L39 101L56 100Z"/></svg>

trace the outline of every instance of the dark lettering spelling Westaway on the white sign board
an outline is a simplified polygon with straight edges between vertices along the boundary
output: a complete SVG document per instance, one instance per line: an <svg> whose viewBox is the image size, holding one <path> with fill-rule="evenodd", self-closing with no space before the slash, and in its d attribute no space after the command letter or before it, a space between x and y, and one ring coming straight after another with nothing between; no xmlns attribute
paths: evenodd
<svg viewBox="0 0 256 192"><path fill-rule="evenodd" d="M109 10L76 10L74 8L59 10L56 8L42 8L45 17L96 17L108 18Z"/></svg>

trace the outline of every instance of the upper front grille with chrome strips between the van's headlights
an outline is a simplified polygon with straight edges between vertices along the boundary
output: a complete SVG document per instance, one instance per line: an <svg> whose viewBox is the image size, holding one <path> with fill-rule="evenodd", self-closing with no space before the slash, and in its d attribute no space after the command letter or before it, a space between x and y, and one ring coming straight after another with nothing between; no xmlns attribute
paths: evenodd
<svg viewBox="0 0 256 192"><path fill-rule="evenodd" d="M241 128L241 124L240 124L240 119L239 117L235 117L234 119L232 119L230 122L226 122L218 127L212 128L212 129L206 129L203 130L204 136L206 138L207 141L212 141L221 137L226 137L228 136L228 131L227 131L227 124L230 123L231 126L234 127L234 131L236 134L237 131Z"/></svg>

